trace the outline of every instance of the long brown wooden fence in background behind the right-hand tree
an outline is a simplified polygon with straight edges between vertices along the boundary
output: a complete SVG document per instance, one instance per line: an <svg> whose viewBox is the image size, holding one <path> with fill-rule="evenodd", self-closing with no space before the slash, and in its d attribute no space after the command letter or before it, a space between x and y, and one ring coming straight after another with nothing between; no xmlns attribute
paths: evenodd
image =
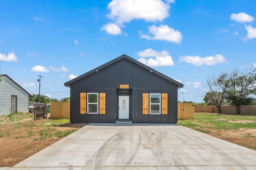
<svg viewBox="0 0 256 170"><path fill-rule="evenodd" d="M240 106L241 115L256 115L256 105ZM236 114L236 106L234 105L222 105L220 106L221 113ZM216 106L195 106L195 112L210 112L218 113Z"/></svg>

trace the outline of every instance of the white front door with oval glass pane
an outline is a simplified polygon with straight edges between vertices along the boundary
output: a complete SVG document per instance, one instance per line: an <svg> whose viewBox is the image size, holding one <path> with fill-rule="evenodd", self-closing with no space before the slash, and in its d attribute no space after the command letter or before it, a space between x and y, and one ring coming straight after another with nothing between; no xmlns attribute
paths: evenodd
<svg viewBox="0 0 256 170"><path fill-rule="evenodd" d="M129 96L119 96L119 119L129 119Z"/></svg>

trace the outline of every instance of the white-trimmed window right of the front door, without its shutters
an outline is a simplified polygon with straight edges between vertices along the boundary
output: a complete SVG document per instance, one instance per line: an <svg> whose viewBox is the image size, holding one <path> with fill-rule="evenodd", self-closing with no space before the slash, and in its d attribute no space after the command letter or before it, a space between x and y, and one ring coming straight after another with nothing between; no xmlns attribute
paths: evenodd
<svg viewBox="0 0 256 170"><path fill-rule="evenodd" d="M150 114L161 114L161 94L150 94Z"/></svg>

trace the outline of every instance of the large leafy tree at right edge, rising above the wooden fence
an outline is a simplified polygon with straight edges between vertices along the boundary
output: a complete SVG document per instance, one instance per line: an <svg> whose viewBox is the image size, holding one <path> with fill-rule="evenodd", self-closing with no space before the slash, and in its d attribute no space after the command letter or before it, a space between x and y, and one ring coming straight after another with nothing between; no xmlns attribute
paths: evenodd
<svg viewBox="0 0 256 170"><path fill-rule="evenodd" d="M256 95L256 68L247 72L234 70L230 74L222 72L217 79L208 79L210 93L214 96L219 95L222 100L236 106L236 114L240 114L241 105L250 105L255 101L252 95Z"/></svg>

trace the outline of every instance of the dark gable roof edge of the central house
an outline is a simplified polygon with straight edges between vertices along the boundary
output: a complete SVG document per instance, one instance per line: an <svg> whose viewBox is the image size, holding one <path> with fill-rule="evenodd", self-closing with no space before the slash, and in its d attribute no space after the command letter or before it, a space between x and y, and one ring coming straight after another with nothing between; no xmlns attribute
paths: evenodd
<svg viewBox="0 0 256 170"><path fill-rule="evenodd" d="M149 66L146 66L143 63L140 63L139 61L137 61L137 60L133 59L132 57L129 57L128 55L125 55L125 54L123 54L123 55L117 57L116 59L113 59L113 60L109 61L108 63L105 63L105 64L103 64L101 66L98 66L97 68L94 68L93 70L90 70L90 71L88 71L88 72L86 72L86 73L84 73L84 74L82 74L82 75L80 75L80 76L78 76L78 77L76 77L76 78L74 78L74 79L64 83L64 86L70 87L70 84L80 80L81 78L84 78L84 77L86 77L86 76L88 76L88 75L90 75L90 74L92 74L92 73L94 73L94 72L96 72L96 71L98 71L98 70L100 70L102 68L105 68L105 67L109 66L110 64L116 63L116 62L118 62L118 61L120 61L122 59L127 59L127 60L131 61L132 63L135 63L135 64L141 66L142 68L144 68L144 69L146 69L146 70L148 70L150 72L153 72L154 74L156 74L156 75L158 75L158 76L160 76L160 77L162 77L162 78L164 78L164 79L166 79L166 80L168 80L168 81L178 85L178 88L182 88L183 87L182 83L177 82L176 80L174 80L174 79L172 79L172 78L170 78L170 77L168 77L168 76L166 76L166 75L164 75L164 74L154 70L153 68L151 68Z"/></svg>

